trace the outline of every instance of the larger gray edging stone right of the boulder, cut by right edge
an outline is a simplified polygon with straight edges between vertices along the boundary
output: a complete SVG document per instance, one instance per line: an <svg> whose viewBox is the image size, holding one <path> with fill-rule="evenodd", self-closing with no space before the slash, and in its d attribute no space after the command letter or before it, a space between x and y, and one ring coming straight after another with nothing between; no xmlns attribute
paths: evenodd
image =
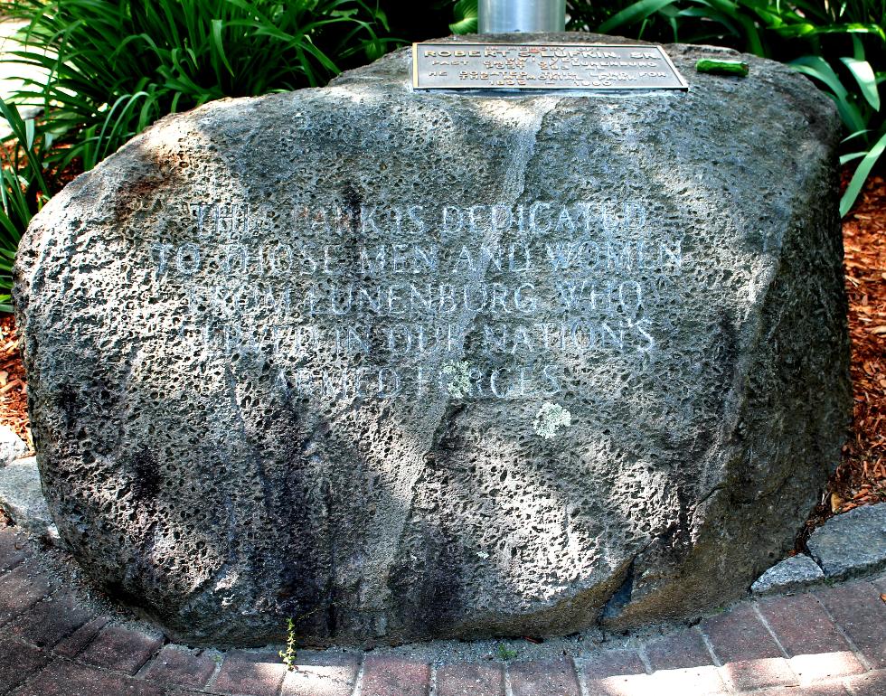
<svg viewBox="0 0 886 696"><path fill-rule="evenodd" d="M827 578L853 578L886 568L886 503L832 517L806 546Z"/></svg>

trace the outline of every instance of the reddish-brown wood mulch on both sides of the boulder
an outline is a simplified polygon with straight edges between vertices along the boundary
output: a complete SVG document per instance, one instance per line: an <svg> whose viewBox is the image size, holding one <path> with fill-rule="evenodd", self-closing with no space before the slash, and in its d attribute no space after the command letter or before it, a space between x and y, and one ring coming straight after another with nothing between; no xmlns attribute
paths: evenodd
<svg viewBox="0 0 886 696"><path fill-rule="evenodd" d="M852 337L853 434L828 482L809 531L834 513L886 501L886 180L873 176L843 224L849 332ZM31 446L27 388L14 319L0 318L0 423ZM802 541L800 541L802 545Z"/></svg>

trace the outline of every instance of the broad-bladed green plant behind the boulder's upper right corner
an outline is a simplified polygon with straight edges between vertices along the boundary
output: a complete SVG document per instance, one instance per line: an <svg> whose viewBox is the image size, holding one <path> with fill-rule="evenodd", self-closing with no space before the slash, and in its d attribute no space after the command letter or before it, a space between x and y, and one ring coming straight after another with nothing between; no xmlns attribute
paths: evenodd
<svg viewBox="0 0 886 696"><path fill-rule="evenodd" d="M640 0L618 7L599 31L727 45L786 61L815 80L848 132L841 161L857 162L843 215L886 159L886 0Z"/></svg>

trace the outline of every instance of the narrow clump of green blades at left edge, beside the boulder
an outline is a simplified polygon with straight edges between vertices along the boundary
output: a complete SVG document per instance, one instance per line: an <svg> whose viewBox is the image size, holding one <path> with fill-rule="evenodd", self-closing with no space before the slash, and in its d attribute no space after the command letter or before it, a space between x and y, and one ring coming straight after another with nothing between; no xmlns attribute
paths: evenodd
<svg viewBox="0 0 886 696"><path fill-rule="evenodd" d="M0 141L0 312L11 312L13 261L33 215L50 196L43 155L52 137L24 119L14 104L0 99L0 116L11 131Z"/></svg>

